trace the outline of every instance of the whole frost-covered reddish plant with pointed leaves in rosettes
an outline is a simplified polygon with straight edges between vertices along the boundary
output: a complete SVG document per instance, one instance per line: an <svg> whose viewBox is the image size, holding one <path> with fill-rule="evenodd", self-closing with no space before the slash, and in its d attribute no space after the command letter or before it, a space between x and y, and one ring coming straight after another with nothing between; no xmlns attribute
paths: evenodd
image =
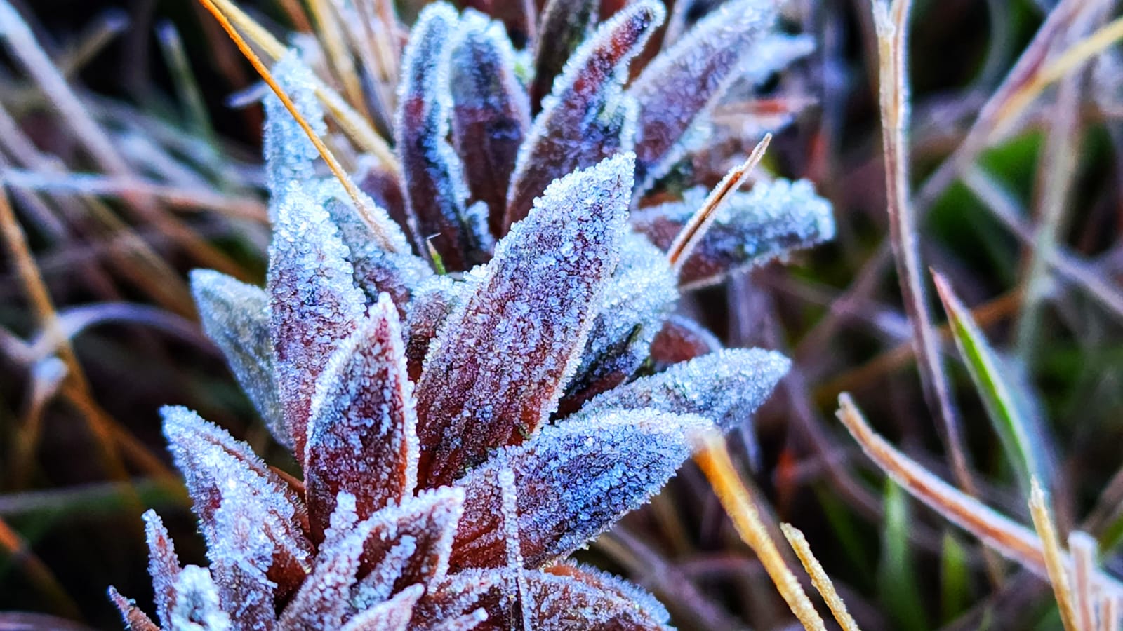
<svg viewBox="0 0 1123 631"><path fill-rule="evenodd" d="M550 2L540 31L577 19L570 4ZM765 183L734 194L713 238L673 267L661 239L694 193L630 219L747 72L730 51L770 19L731 2L626 88L663 16L641 0L596 27L530 125L538 107L503 30L428 7L401 73L400 179L364 180L387 208L319 176L301 128L266 101L266 287L211 271L192 286L204 329L303 479L165 409L211 563L181 567L145 515L162 628L667 624L639 588L566 557L657 492L694 432L748 422L787 369L778 354L719 349L673 318L679 286L833 225L805 183ZM592 28L582 19L566 28ZM541 55L537 67L558 67ZM290 54L274 73L322 132L310 71ZM387 202L394 186L401 208ZM111 595L133 631L161 628Z"/></svg>

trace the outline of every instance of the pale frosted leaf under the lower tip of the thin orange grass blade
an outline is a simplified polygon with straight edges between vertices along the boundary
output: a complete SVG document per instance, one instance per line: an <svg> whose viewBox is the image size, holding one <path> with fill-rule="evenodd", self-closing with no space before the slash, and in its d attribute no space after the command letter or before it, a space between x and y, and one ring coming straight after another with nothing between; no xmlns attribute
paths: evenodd
<svg viewBox="0 0 1123 631"><path fill-rule="evenodd" d="M355 211L350 198L338 180L320 184L317 202L328 211L331 221L339 228L339 237L349 252L347 259L355 272L355 284L374 302L378 294L386 292L404 312L410 300L410 291L432 275L429 264L410 252L405 234L398 228L386 211L368 200L367 209L383 216L384 237L391 241L393 252L380 245L371 227Z"/></svg>

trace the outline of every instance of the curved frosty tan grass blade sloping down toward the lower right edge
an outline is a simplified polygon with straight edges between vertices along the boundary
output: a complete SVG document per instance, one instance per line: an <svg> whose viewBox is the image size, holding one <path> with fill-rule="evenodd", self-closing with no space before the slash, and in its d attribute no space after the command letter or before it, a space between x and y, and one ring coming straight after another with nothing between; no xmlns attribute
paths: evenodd
<svg viewBox="0 0 1123 631"><path fill-rule="evenodd" d="M1044 550L1041 540L1032 530L957 491L898 451L869 427L848 394L839 396L838 418L861 446L862 451L913 497L948 521L978 537L1004 557L1042 578L1048 578ZM1063 565L1068 564L1069 561L1065 559ZM1096 582L1102 589L1112 594L1123 594L1123 585L1114 579L1099 576Z"/></svg>

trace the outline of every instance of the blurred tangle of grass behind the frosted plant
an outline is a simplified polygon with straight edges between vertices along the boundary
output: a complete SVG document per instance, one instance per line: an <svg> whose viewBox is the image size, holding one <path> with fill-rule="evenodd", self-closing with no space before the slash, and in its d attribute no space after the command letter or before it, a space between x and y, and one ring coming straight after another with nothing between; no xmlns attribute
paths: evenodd
<svg viewBox="0 0 1123 631"><path fill-rule="evenodd" d="M267 460L286 458L199 333L184 284L199 266L263 277L261 111L229 106L255 76L189 0L0 3L8 1L30 31L0 26L0 122L8 126L0 170L16 220L4 221L0 263L0 610L118 628L106 587L137 597L150 589L145 507L159 509L185 563L204 560L156 410L188 405ZM699 10L712 3L696 2ZM277 33L292 26L268 0L243 6ZM1078 6L1079 19L1056 18ZM1050 11L1059 24L1035 43ZM980 146L969 135L1020 58L1040 67L1116 13L1114 2L919 1L909 79L921 259L974 310L1005 362L1012 399L1038 419L1030 438L1051 463L1046 482L1060 531L1090 532L1106 569L1121 575L1117 46L1066 73L1001 136ZM884 254L869 4L793 0L785 15L818 51L770 86L782 106L810 104L777 135L767 163L812 180L834 204L839 235L792 265L688 301L728 344L778 348L795 360L757 419L764 463L746 474L776 516L807 534L864 629L1056 628L1046 583L1005 563L988 571L973 537L886 482L833 419L838 394L850 392L894 445L953 479ZM31 80L27 36L62 68L84 119L52 107L58 94ZM57 318L45 320L28 299L34 274L12 248L16 232ZM928 293L943 324L943 308ZM942 348L979 497L1029 523L986 402L949 335ZM588 559L652 588L684 628L791 624L704 484L687 467Z"/></svg>

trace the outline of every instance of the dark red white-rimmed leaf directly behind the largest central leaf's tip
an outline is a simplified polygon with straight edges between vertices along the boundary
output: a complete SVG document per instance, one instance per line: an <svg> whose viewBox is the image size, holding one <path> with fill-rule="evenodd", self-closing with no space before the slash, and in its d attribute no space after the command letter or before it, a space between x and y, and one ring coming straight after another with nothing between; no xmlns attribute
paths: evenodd
<svg viewBox="0 0 1123 631"><path fill-rule="evenodd" d="M621 84L664 13L654 0L629 4L566 63L519 150L506 195L506 227L527 216L550 181L631 149L636 103Z"/></svg>

